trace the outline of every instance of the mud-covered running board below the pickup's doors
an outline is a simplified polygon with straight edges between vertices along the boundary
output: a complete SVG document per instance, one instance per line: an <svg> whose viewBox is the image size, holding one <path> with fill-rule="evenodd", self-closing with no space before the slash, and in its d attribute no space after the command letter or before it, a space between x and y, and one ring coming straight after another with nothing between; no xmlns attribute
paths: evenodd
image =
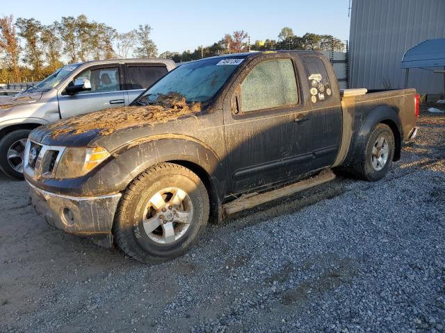
<svg viewBox="0 0 445 333"><path fill-rule="evenodd" d="M223 216L241 212L241 210L248 210L257 205L261 205L261 203L267 203L284 196L291 196L299 191L323 184L323 182L330 182L331 180L334 180L334 178L334 173L332 170L328 169L321 171L317 176L281 187L280 189L273 189L261 194L243 194L239 198L223 205Z"/></svg>

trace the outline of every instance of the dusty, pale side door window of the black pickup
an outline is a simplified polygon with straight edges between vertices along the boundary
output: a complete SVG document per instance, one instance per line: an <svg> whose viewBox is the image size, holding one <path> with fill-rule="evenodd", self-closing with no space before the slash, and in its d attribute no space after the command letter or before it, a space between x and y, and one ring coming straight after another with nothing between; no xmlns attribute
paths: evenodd
<svg viewBox="0 0 445 333"><path fill-rule="evenodd" d="M241 83L243 112L297 103L297 81L290 59L260 62Z"/></svg>

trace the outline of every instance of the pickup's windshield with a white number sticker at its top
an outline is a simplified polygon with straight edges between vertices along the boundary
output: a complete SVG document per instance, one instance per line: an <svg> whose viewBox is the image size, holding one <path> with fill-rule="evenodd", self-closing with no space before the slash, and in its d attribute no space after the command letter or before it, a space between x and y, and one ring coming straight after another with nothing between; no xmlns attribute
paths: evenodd
<svg viewBox="0 0 445 333"><path fill-rule="evenodd" d="M155 102L160 95L167 94L179 94L187 102L209 101L243 60L215 58L181 65L150 87L136 102Z"/></svg>

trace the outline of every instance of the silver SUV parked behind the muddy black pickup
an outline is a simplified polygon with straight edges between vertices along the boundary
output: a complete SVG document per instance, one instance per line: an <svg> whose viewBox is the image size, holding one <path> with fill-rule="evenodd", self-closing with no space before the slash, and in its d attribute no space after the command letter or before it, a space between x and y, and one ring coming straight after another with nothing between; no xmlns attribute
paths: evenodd
<svg viewBox="0 0 445 333"><path fill-rule="evenodd" d="M22 179L31 130L76 114L129 105L174 68L175 62L167 59L82 62L61 67L25 92L0 99L0 169Z"/></svg>

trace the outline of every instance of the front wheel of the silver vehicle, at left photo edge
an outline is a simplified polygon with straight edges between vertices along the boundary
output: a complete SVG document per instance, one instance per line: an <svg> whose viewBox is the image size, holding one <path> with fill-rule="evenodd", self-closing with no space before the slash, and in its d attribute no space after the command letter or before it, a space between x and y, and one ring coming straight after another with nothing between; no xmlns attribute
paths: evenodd
<svg viewBox="0 0 445 333"><path fill-rule="evenodd" d="M31 130L14 130L0 140L0 169L10 178L24 179L23 154L29 133Z"/></svg>

